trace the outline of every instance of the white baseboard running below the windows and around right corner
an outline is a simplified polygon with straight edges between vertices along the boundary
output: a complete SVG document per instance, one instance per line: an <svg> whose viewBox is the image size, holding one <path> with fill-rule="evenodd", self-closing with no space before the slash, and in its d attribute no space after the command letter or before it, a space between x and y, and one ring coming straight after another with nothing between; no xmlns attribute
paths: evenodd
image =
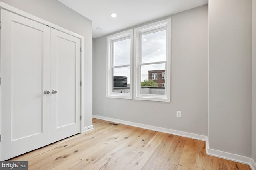
<svg viewBox="0 0 256 170"><path fill-rule="evenodd" d="M140 127L140 128L149 129L149 130L158 131L158 132L163 132L163 133L168 133L168 134L172 134L172 135L188 137L188 138L192 138L192 139L198 139L198 140L201 140L201 141L206 141L206 153L208 155L215 156L215 157L218 157L218 158L227 159L227 160L232 160L232 161L243 163L243 164L248 164L248 165L250 165L252 170L256 170L256 163L250 157L241 156L241 155L237 155L237 154L232 154L232 153L228 153L228 152L223 152L223 151L220 151L220 150L210 149L209 148L208 137L204 136L204 135L198 135L198 134L194 134L194 133L177 131L177 130L162 128L162 127L156 127L156 126L151 126L151 125L144 125L144 124L141 124L141 123L134 123L134 122L130 122L130 121L124 121L124 120L120 120L120 119L113 119L113 118L110 118L110 117L104 117L104 116L99 116L99 115L92 115L92 118L111 121L111 122L114 122L114 123L121 123L121 124L124 124L124 125L130 125L130 126L134 126L134 127Z"/></svg>

